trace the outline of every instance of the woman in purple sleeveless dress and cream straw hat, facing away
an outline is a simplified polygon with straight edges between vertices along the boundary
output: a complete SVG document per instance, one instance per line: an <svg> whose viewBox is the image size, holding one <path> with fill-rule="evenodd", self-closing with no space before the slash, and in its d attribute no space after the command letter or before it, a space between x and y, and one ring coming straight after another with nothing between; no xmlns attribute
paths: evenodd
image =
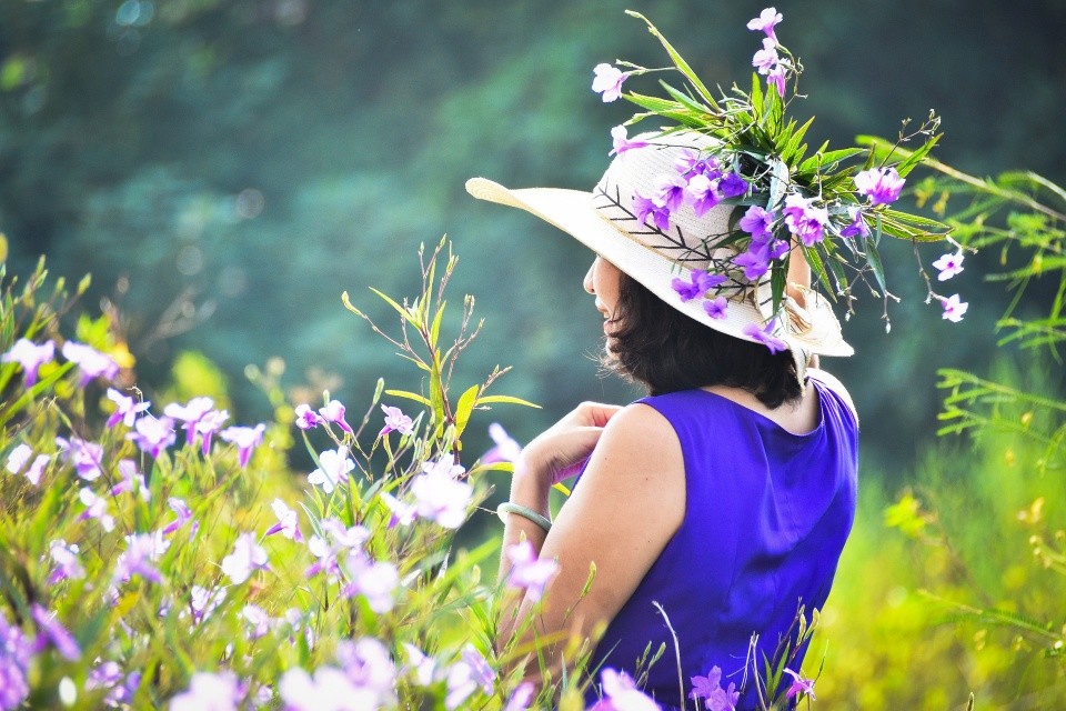
<svg viewBox="0 0 1066 711"><path fill-rule="evenodd" d="M824 603L854 518L857 420L839 382L806 369L813 354L851 348L806 289L804 259L790 261L774 311L768 278L748 279L736 261L735 208L673 200L670 177L711 170L716 143L638 138L591 194L467 182L597 254L584 288L604 317L606 360L651 394L583 403L523 450L501 507L504 550L524 539L559 562L527 633L549 642L549 663L567 662L552 641L605 629L590 669L640 679L648 643L665 643L641 679L664 708L681 708L690 680L715 667L722 687L748 680L737 708L754 708L751 673L794 633L800 605ZM668 220L654 214L660 202ZM583 463L549 524L551 487ZM510 567L504 554L501 574ZM501 641L533 604L504 612ZM802 650L788 665L801 661ZM590 699L599 693L590 684Z"/></svg>

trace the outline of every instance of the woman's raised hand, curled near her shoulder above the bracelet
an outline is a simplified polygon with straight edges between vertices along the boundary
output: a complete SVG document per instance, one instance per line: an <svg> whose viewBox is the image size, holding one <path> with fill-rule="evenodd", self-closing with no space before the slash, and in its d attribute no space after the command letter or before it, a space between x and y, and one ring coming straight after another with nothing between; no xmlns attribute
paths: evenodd
<svg viewBox="0 0 1066 711"><path fill-rule="evenodd" d="M545 490L574 475L595 449L603 428L621 410L616 404L582 402L525 445L515 475L531 477Z"/></svg>

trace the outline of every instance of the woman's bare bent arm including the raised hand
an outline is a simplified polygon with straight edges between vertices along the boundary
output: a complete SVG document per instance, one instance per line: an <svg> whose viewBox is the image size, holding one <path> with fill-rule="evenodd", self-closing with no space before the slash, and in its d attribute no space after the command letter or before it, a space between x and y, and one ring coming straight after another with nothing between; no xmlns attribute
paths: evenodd
<svg viewBox="0 0 1066 711"><path fill-rule="evenodd" d="M524 535L541 558L559 562L559 574L535 609L533 629L519 644L522 649L535 637L546 638L550 643L543 654L551 668L557 667L564 647L551 642L570 635L584 639L610 622L676 532L685 510L681 444L658 412L634 404L610 412L575 413L523 451L515 468L512 501L546 513L553 481L595 448L580 485L546 535L515 514L507 517L504 531L504 547ZM592 564L595 580L582 597ZM501 575L510 569L504 548ZM527 597L510 599L501 614L499 648L531 611L534 603Z"/></svg>

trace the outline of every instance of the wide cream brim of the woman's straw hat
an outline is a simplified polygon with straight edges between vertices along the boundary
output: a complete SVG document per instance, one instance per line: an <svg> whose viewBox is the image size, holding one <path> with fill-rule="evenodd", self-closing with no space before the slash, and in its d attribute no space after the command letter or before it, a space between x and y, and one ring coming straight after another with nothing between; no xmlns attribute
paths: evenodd
<svg viewBox="0 0 1066 711"><path fill-rule="evenodd" d="M691 279L691 271L615 227L595 209L592 193L563 188L512 190L486 178L471 178L466 181L466 191L479 200L519 208L555 226L638 281L671 307L716 331L754 341L755 339L744 332L745 327L765 321L758 309L750 302L731 301L725 317L715 319L704 310L703 299L682 301L671 282L678 277ZM827 304L824 306L827 308ZM815 311L812 311L812 316L824 318L824 314ZM836 323L832 310L828 317ZM808 342L794 337L785 337L785 340L793 349L823 356L851 356L854 351L839 337L838 323L836 333L836 338L831 338L827 342Z"/></svg>

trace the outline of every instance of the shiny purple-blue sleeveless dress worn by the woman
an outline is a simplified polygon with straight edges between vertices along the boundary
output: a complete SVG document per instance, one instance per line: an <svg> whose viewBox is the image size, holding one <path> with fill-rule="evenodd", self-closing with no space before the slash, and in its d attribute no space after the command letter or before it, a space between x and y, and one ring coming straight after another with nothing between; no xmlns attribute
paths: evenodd
<svg viewBox="0 0 1066 711"><path fill-rule="evenodd" d="M787 634L802 602L821 609L855 518L858 423L827 385L818 392L822 420L792 434L772 420L703 390L645 398L673 425L685 462L681 528L607 627L593 664L635 677L651 642L666 651L648 670L644 692L664 709L681 707L678 657L662 614L677 634L684 693L692 677L722 670L722 687L752 674L750 647L758 634L757 667ZM790 664L800 670L801 655ZM594 668L594 667L593 667ZM599 681L599 680L597 680ZM596 684L590 687L594 701ZM754 709L751 682L737 709ZM687 701L694 709L693 701Z"/></svg>

